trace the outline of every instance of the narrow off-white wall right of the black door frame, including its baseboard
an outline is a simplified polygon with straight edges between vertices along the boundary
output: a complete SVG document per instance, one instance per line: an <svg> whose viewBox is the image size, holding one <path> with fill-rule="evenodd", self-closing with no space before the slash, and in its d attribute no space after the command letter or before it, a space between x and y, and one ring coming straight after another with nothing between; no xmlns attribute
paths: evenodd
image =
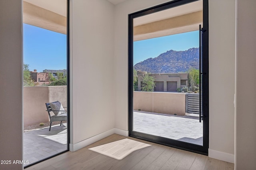
<svg viewBox="0 0 256 170"><path fill-rule="evenodd" d="M209 156L228 162L234 162L235 9L234 0L209 0Z"/></svg>

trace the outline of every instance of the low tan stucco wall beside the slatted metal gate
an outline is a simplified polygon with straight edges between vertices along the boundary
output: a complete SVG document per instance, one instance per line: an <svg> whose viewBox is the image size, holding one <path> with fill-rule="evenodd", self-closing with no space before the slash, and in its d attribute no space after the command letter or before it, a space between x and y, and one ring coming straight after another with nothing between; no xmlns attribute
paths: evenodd
<svg viewBox="0 0 256 170"><path fill-rule="evenodd" d="M186 114L186 94L134 91L133 109L184 116Z"/></svg>

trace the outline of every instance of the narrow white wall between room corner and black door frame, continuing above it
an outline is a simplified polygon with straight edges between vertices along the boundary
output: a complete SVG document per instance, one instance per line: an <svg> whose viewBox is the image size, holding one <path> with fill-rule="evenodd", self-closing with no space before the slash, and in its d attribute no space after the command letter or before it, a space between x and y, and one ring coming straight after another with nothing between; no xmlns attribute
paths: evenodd
<svg viewBox="0 0 256 170"><path fill-rule="evenodd" d="M128 14L170 0L127 0L115 6L115 127L128 130Z"/></svg>

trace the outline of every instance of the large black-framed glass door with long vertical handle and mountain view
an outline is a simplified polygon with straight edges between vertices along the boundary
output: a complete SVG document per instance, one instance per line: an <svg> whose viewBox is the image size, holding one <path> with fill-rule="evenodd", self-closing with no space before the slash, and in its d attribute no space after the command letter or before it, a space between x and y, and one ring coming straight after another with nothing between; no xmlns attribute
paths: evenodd
<svg viewBox="0 0 256 170"><path fill-rule="evenodd" d="M206 12L174 0L129 15L130 136L208 154Z"/></svg>

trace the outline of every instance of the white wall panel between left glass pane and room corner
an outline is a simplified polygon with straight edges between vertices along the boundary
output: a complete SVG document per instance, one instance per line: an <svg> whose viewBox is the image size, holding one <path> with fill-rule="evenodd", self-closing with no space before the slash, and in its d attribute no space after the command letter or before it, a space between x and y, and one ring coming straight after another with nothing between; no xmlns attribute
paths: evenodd
<svg viewBox="0 0 256 170"><path fill-rule="evenodd" d="M114 128L114 5L70 1L71 146Z"/></svg>

